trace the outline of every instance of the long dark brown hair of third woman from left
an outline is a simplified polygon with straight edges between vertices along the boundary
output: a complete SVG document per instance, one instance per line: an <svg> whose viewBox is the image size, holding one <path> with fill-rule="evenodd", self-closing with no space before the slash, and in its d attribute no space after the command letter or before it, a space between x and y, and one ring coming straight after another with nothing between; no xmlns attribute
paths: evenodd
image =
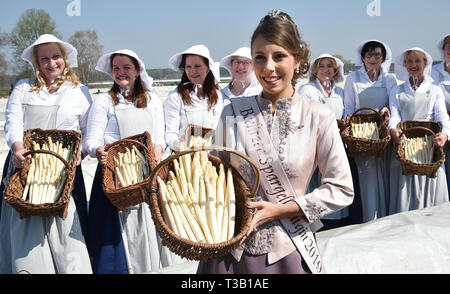
<svg viewBox="0 0 450 294"><path fill-rule="evenodd" d="M189 54L183 54L183 58L181 59L181 63L179 68L183 70L183 75L181 77L181 82L178 84L178 93L181 95L181 99L183 102L187 105L192 105L192 99L189 95L191 91L194 90L194 85L190 83L188 76L186 75L186 71L184 70L184 67L186 65L186 56ZM206 57L200 56L203 60L203 62L208 65L209 60ZM217 100L219 99L219 96L217 95L216 90L219 89L219 86L216 84L214 80L214 75L211 71L211 68L209 69L208 74L205 77L205 81L203 82L203 92L208 95L208 110L214 107L216 105Z"/></svg>

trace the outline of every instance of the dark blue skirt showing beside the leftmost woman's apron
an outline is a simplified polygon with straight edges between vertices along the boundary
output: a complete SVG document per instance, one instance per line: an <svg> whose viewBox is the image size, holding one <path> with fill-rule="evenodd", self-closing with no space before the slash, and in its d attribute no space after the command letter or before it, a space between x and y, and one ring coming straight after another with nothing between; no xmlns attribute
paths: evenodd
<svg viewBox="0 0 450 294"><path fill-rule="evenodd" d="M3 191L5 191L5 185L3 184L3 180L6 177L6 172L8 171L9 161L11 158L11 151L9 151L8 156L5 160L5 165L3 166L3 174L2 174L2 182L0 185L0 199L3 199ZM86 200L86 187L84 185L84 177L83 170L81 165L77 166L75 173L75 180L73 183L73 191L72 197L75 202L75 206L77 208L78 218L80 219L81 232L83 236L86 238L87 234L87 200ZM1 221L1 211L2 211L2 203L0 201L0 221Z"/></svg>

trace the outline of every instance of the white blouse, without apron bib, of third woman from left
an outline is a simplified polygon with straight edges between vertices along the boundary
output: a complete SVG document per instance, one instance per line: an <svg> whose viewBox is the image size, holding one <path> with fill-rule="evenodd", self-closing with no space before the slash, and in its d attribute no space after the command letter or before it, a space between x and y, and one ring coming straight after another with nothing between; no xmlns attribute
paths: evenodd
<svg viewBox="0 0 450 294"><path fill-rule="evenodd" d="M222 93L218 90L217 92L217 103L209 111L213 115L214 121L210 122L208 128L216 129L217 123L219 121L220 115L223 109L223 99ZM200 100L194 91L191 91L190 97L192 100L192 105L184 104L181 99L181 95L178 93L178 89L174 89L169 93L169 96L164 101L164 119L166 121L166 143L174 150L174 143L177 140L182 140L184 137L184 132L188 125L188 119L186 116L186 110L189 111L208 111L208 97Z"/></svg>

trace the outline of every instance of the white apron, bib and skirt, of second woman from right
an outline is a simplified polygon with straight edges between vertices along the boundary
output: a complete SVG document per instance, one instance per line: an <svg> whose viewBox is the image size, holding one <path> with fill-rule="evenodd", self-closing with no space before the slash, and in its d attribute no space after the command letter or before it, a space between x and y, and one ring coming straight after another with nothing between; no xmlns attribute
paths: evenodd
<svg viewBox="0 0 450 294"><path fill-rule="evenodd" d="M402 120L425 120L424 109L429 109L428 105L431 103L429 94L408 94L405 91L406 83L400 86L399 110ZM389 214L435 206L449 201L443 165L438 169L436 178L419 175L404 176L400 161L393 154L391 175Z"/></svg>

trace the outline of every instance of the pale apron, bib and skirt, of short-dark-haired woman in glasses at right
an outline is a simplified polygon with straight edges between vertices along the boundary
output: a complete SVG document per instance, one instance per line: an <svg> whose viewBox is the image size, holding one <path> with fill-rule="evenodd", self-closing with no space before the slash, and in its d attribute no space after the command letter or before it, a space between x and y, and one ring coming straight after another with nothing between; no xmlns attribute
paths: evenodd
<svg viewBox="0 0 450 294"><path fill-rule="evenodd" d="M356 72L360 108L369 107L380 111L383 107L389 106L386 77L382 76L381 79L380 87L364 86L361 72ZM389 144L381 158L373 156L354 157L358 169L363 222L371 221L387 214L389 177L386 169L386 158L390 157L391 150L392 147Z"/></svg>

